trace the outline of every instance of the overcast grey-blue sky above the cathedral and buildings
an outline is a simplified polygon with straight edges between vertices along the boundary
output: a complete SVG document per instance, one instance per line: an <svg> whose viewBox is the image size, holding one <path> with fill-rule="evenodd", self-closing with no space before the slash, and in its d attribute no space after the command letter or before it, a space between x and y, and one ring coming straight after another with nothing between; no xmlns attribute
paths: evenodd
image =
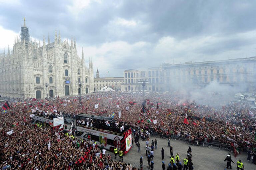
<svg viewBox="0 0 256 170"><path fill-rule="evenodd" d="M26 17L32 39L75 37L100 76L162 63L255 56L256 1L0 0L0 52ZM109 74L106 74L109 71Z"/></svg>

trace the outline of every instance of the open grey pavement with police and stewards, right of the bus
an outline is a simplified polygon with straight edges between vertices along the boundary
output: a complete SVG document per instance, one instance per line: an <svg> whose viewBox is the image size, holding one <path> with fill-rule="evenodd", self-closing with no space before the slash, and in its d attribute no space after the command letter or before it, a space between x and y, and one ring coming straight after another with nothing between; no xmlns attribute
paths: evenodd
<svg viewBox="0 0 256 170"><path fill-rule="evenodd" d="M167 145L166 139L161 139L157 137L150 138L150 144L152 140L157 139L157 149L154 150L154 169L155 170L162 170L162 158L161 158L161 149L164 148L165 155L164 155L164 162L167 165L170 162L170 154L169 154L169 147ZM147 166L147 157L146 154L146 143L145 141L140 140L141 151L137 152L137 146L134 146L127 155L124 156L124 161L126 163L136 163L139 165L140 157L143 156L143 165ZM179 140L171 139L171 146L173 147L173 154L174 157L176 153L179 153L180 160L182 161L187 155L188 145ZM194 170L224 170L226 168L226 162L224 159L226 158L227 154L229 153L226 150L220 150L216 148L209 148L209 147L202 147L202 146L191 146L192 148L192 162L194 164ZM115 159L115 156L111 152L107 152L112 156L112 159ZM245 170L256 170L256 165L252 164L252 162L247 162L247 154L239 154L236 158L234 157L233 153L231 153L231 158L235 162L232 165L232 169L236 169L236 162L241 159L244 164ZM119 160L119 157L117 158Z"/></svg>

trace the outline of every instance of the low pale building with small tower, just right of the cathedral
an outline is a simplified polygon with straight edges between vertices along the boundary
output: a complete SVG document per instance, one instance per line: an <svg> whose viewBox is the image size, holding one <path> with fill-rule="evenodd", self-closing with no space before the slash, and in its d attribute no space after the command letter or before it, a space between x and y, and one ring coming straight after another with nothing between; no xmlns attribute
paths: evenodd
<svg viewBox="0 0 256 170"><path fill-rule="evenodd" d="M99 70L97 69L96 78L94 78L94 91L97 92L105 86L118 91L121 90L122 83L124 83L123 77L100 77Z"/></svg>

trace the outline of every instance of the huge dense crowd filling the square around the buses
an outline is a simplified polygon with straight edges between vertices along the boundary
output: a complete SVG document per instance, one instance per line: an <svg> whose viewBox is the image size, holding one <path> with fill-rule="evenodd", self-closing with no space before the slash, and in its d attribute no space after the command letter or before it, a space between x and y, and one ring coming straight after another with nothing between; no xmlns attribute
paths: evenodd
<svg viewBox="0 0 256 170"><path fill-rule="evenodd" d="M122 127L123 131L131 127L147 131L148 134L141 131L138 134L145 140L153 133L175 135L194 142L232 145L248 151L251 155L255 153L255 109L236 101L211 107L197 104L196 101L181 101L181 98L173 93L150 93L146 94L146 100L143 101L142 95L137 93L111 92L82 96L81 105L79 97L8 99L11 107L0 117L0 167L132 169L125 163L113 161L103 155L91 141L67 137L50 127L33 126L30 123L32 109L37 110L36 114L49 118L62 114L75 118L81 113L110 117L115 113L115 123L108 124L104 121L103 124L112 131L122 132ZM153 120L156 122L153 123ZM102 126L93 119L81 120L79 123L84 126ZM11 130L12 134L7 134ZM86 158L79 163L78 160L85 156L85 153Z"/></svg>

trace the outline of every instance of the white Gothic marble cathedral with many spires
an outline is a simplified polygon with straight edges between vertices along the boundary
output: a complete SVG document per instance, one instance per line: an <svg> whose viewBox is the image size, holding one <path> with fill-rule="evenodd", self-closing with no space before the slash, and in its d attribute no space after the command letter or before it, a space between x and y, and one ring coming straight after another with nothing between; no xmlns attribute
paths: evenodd
<svg viewBox="0 0 256 170"><path fill-rule="evenodd" d="M77 54L76 40L54 42L29 40L28 27L21 27L13 49L0 55L0 95L15 98L72 96L94 91L93 64L85 66L84 53Z"/></svg>

